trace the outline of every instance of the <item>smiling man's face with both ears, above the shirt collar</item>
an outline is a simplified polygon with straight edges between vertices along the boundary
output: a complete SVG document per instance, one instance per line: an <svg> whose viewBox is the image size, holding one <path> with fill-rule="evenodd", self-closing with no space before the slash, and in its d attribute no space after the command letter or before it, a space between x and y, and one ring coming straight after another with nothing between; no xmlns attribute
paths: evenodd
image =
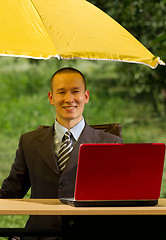
<svg viewBox="0 0 166 240"><path fill-rule="evenodd" d="M89 102L89 91L85 90L82 76L77 72L56 74L50 103L55 106L57 121L70 129L82 120L85 103Z"/></svg>

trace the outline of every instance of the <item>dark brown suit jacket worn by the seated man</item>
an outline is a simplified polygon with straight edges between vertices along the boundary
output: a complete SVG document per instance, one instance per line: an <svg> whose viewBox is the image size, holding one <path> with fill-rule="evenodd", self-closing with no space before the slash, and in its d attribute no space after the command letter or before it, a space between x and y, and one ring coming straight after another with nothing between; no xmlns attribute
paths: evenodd
<svg viewBox="0 0 166 240"><path fill-rule="evenodd" d="M60 174L53 136L53 126L21 136L14 164L0 189L0 198L23 198L30 187L31 198L73 197L80 144L122 142L121 138L95 130L86 124L66 168ZM26 227L60 228L60 217L48 216L48 219L44 220L41 216L30 217Z"/></svg>

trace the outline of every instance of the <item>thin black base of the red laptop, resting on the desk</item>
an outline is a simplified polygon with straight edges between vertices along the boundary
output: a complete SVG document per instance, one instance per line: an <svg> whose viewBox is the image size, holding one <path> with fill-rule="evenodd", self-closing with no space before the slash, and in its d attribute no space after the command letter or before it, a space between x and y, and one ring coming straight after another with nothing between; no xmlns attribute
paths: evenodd
<svg viewBox="0 0 166 240"><path fill-rule="evenodd" d="M76 201L74 198L60 198L59 200L73 207L141 207L158 204L158 200Z"/></svg>

